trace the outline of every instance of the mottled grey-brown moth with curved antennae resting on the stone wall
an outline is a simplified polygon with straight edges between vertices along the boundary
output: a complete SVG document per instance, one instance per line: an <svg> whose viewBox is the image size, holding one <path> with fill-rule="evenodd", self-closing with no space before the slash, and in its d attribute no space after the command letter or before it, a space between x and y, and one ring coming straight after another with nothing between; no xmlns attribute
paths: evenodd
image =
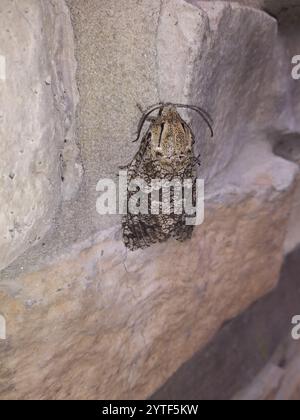
<svg viewBox="0 0 300 420"><path fill-rule="evenodd" d="M180 116L178 108L187 108L197 112L208 125L213 136L212 119L202 108L194 105L160 103L147 109L138 124L137 142L142 134L144 125L150 125L142 137L139 149L132 161L123 166L127 170L127 214L123 216L123 240L131 251L147 248L157 242L175 238L178 241L190 239L194 226L186 223L187 214L175 210L176 197L173 189L170 198L169 211L162 211L164 196L162 195L164 183L172 181L192 180L192 201L195 204L196 165L200 165L199 156L195 157L193 146L195 136L191 127ZM158 111L157 116L152 114ZM139 191L139 187L130 188L129 185L136 180L142 180L144 185L153 191L153 180L157 187L155 206L153 198L149 196L147 212L132 213L129 201ZM182 197L184 199L184 197ZM156 211L153 211L153 208Z"/></svg>

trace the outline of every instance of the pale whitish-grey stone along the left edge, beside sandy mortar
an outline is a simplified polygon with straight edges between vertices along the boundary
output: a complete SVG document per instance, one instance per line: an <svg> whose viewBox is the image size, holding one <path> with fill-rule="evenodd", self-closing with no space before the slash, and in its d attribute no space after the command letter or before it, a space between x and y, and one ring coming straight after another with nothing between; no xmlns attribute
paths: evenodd
<svg viewBox="0 0 300 420"><path fill-rule="evenodd" d="M76 189L76 168L71 177L63 174L64 141L74 142L78 100L72 30L64 3L54 4L0 5L6 67L0 80L0 270L41 242L61 200ZM77 154L73 145L73 167Z"/></svg>

